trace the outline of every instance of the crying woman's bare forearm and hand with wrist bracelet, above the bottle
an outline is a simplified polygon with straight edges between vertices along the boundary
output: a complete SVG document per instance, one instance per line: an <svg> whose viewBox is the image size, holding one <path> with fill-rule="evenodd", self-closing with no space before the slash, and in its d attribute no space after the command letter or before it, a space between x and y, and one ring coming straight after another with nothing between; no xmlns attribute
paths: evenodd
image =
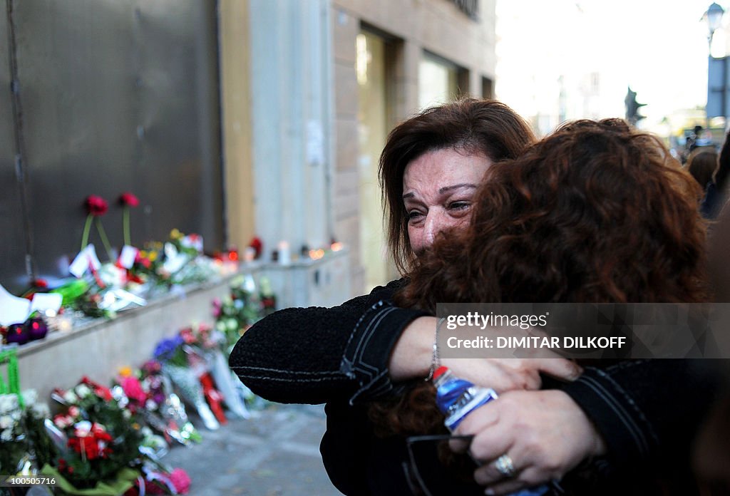
<svg viewBox="0 0 730 496"><path fill-rule="evenodd" d="M436 317L419 317L404 329L393 348L388 365L393 381L425 378L429 375L437 322ZM523 331L525 336L539 336L538 332L534 329ZM478 334L488 333L496 336L505 334L502 329L490 328L479 330ZM529 357L525 356L528 351L523 349L491 351L485 351L487 358L448 358L442 359L442 364L452 369L456 376L480 386L491 387L499 393L537 390L541 384L540 373L573 381L582 372L579 365L548 349L539 349L537 354Z"/></svg>

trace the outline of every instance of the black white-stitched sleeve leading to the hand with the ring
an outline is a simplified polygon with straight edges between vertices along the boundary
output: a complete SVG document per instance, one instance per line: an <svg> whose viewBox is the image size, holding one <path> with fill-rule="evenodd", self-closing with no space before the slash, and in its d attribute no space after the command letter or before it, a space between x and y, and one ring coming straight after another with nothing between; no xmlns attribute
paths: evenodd
<svg viewBox="0 0 730 496"><path fill-rule="evenodd" d="M604 437L612 465L685 456L720 387L712 360L634 360L585 368L564 390Z"/></svg>

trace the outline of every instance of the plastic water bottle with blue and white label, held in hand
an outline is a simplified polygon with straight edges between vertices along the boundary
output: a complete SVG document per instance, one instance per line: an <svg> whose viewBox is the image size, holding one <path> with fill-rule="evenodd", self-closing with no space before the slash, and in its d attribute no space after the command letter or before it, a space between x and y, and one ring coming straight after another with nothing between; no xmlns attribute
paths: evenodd
<svg viewBox="0 0 730 496"><path fill-rule="evenodd" d="M437 368L433 380L436 387L436 405L446 416L444 425L451 432L456 430L464 417L475 408L499 398L491 387L476 386L466 379L456 377L447 367ZM541 496L549 490L548 484L542 484L512 492L510 496Z"/></svg>

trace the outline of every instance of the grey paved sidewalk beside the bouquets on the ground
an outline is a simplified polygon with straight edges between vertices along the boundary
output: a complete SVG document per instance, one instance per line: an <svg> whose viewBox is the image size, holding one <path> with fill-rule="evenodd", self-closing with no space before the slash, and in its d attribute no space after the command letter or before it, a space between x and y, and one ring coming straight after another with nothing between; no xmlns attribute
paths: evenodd
<svg viewBox="0 0 730 496"><path fill-rule="evenodd" d="M270 403L253 413L254 418L229 420L219 430L201 428L200 444L172 446L163 458L166 465L188 471L191 496L341 495L319 453L323 406Z"/></svg>

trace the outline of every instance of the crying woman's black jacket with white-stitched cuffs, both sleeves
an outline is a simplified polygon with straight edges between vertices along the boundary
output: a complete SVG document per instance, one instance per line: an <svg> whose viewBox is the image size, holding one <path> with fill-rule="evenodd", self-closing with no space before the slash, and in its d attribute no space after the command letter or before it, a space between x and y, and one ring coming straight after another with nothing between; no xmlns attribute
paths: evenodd
<svg viewBox="0 0 730 496"><path fill-rule="evenodd" d="M231 369L255 394L280 403L327 403L320 451L332 482L347 495L409 494L400 467L403 443L376 438L366 415L369 400L397 390L388 358L403 329L426 314L393 306L402 284L376 287L331 309L277 311L247 330L231 353ZM696 360L634 360L585 368L569 384L545 379L544 387L566 392L603 435L603 473L618 480L656 468L677 478L669 483L677 491L667 494L691 494L689 446L718 387L711 368Z"/></svg>

